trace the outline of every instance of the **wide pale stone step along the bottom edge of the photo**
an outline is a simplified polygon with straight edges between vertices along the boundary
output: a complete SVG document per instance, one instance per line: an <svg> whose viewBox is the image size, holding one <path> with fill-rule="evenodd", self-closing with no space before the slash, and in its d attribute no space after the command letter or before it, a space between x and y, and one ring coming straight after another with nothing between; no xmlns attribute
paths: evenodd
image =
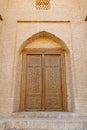
<svg viewBox="0 0 87 130"><path fill-rule="evenodd" d="M0 130L87 130L87 118L3 118Z"/></svg>

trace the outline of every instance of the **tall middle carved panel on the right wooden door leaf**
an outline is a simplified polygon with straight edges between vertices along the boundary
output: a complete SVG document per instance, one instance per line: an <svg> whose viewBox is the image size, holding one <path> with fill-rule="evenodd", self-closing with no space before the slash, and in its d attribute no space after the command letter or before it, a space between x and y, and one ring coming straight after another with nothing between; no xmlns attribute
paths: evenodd
<svg viewBox="0 0 87 130"><path fill-rule="evenodd" d="M45 68L46 94L61 93L60 70L58 67Z"/></svg>

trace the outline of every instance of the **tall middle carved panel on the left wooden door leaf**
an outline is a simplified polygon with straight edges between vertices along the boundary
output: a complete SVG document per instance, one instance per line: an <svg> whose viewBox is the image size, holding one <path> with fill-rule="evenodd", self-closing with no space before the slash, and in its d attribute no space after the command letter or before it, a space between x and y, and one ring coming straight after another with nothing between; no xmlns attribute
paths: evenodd
<svg viewBox="0 0 87 130"><path fill-rule="evenodd" d="M41 68L29 67L27 69L27 88L26 92L30 94L41 94Z"/></svg>

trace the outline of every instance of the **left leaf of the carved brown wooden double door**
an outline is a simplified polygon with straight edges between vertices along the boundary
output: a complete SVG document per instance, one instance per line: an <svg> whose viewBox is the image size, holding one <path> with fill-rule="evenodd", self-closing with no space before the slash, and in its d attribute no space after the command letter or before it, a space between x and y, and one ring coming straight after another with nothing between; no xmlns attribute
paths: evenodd
<svg viewBox="0 0 87 130"><path fill-rule="evenodd" d="M41 109L41 55L27 55L25 109Z"/></svg>

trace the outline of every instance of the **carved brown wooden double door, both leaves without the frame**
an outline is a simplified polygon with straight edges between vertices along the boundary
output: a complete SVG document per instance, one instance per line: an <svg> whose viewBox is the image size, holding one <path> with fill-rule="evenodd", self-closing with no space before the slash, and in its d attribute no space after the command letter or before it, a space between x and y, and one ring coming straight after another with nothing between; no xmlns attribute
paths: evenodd
<svg viewBox="0 0 87 130"><path fill-rule="evenodd" d="M62 110L61 55L27 54L25 110Z"/></svg>

